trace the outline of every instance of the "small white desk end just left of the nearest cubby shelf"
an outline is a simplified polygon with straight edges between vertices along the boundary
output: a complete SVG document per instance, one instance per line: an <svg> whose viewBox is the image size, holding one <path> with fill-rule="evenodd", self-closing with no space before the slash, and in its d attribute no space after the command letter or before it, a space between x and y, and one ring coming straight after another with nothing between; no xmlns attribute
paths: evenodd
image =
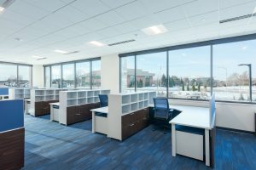
<svg viewBox="0 0 256 170"><path fill-rule="evenodd" d="M93 110L90 110L92 113L92 127L91 127L91 132L92 133L103 133L103 134L108 134L108 122L107 122L107 117L101 117L101 116L96 116L96 112L99 113L106 113L108 114L108 106L107 107L100 107L96 108Z"/></svg>

